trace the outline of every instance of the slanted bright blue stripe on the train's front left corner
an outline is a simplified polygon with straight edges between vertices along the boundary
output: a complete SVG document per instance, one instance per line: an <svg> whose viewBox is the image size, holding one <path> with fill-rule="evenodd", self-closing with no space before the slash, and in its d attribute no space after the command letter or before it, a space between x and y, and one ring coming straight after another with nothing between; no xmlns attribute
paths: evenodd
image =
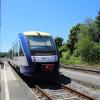
<svg viewBox="0 0 100 100"><path fill-rule="evenodd" d="M28 64L31 65L32 63L32 59L31 59L31 54L30 54L30 50L29 50L29 46L27 44L27 40L25 39L24 35L22 33L19 33L19 38L21 40L21 44L25 53L25 56L27 58Z"/></svg>

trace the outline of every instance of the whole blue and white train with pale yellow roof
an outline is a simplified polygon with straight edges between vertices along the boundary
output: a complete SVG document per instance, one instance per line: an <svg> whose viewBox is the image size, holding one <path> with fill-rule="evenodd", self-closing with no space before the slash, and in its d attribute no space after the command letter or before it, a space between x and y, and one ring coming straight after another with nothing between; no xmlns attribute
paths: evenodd
<svg viewBox="0 0 100 100"><path fill-rule="evenodd" d="M48 80L60 74L59 51L49 33L19 33L9 54L9 63L24 76Z"/></svg>

